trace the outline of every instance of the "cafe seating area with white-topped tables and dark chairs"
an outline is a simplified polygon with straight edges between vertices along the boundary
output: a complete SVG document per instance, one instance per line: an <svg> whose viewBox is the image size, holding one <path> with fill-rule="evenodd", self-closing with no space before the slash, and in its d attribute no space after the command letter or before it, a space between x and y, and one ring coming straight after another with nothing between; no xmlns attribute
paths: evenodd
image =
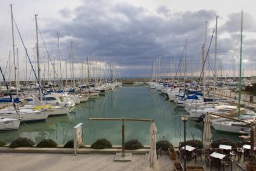
<svg viewBox="0 0 256 171"><path fill-rule="evenodd" d="M256 147L254 147L256 150ZM179 143L177 160L186 166L202 166L205 170L231 170L237 163L244 164L250 161L250 141L230 143L227 141L212 141L208 149L203 150L198 146ZM176 161L177 161L176 160ZM236 169L235 169L236 170Z"/></svg>

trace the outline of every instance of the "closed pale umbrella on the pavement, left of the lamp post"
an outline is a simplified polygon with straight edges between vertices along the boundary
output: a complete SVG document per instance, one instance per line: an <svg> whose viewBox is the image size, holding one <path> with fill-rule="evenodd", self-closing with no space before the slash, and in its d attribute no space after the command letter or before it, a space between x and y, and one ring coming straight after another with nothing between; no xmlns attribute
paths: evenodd
<svg viewBox="0 0 256 171"><path fill-rule="evenodd" d="M149 151L149 163L150 168L153 170L157 168L157 127L154 122L152 122L150 128L150 151Z"/></svg>

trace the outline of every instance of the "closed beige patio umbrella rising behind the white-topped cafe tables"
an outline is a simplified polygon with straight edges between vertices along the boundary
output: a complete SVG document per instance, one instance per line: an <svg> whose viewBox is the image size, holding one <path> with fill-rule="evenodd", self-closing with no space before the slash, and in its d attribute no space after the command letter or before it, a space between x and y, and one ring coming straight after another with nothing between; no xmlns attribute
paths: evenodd
<svg viewBox="0 0 256 171"><path fill-rule="evenodd" d="M204 118L203 149L209 149L211 141L211 115L207 114Z"/></svg>

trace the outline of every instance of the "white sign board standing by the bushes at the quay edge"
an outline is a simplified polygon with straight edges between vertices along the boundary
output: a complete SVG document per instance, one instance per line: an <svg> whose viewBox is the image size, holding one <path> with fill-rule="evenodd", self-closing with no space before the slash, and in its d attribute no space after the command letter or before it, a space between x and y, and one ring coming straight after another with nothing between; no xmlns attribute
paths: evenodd
<svg viewBox="0 0 256 171"><path fill-rule="evenodd" d="M83 123L77 124L73 128L74 134L74 152L76 155L76 149L78 149L81 145L83 145Z"/></svg>

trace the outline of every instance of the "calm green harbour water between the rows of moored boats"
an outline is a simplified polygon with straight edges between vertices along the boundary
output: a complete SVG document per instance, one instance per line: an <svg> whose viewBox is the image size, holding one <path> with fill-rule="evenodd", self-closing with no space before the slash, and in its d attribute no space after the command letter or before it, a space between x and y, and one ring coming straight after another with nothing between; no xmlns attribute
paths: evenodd
<svg viewBox="0 0 256 171"><path fill-rule="evenodd" d="M44 138L52 138L58 144L72 139L72 127L84 124L84 144L89 145L99 138L107 138L113 145L121 145L121 121L88 121L87 118L148 118L154 119L158 129L158 140L169 140L174 145L183 141L184 123L180 116L186 114L183 108L166 100L159 91L147 86L123 86L98 99L76 105L74 113L48 117L43 122L21 124L17 131L0 132L0 140L12 142L18 137L28 137L38 143ZM125 138L136 138L149 144L148 122L125 122ZM203 124L188 121L187 140L202 139ZM226 137L239 140L237 135L212 131L212 139Z"/></svg>

